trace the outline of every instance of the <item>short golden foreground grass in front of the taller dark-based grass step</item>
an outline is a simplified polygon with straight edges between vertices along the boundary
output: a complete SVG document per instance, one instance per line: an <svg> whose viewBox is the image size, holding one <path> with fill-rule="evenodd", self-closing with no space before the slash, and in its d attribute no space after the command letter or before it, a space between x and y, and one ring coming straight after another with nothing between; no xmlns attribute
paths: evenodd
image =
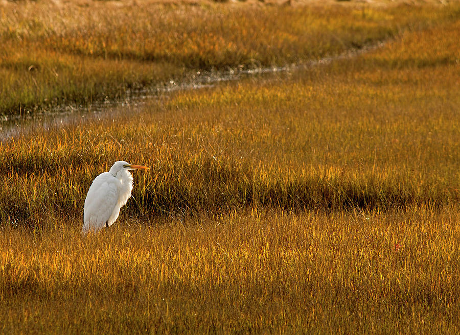
<svg viewBox="0 0 460 335"><path fill-rule="evenodd" d="M460 329L460 211L231 212L3 228L4 333Z"/></svg>

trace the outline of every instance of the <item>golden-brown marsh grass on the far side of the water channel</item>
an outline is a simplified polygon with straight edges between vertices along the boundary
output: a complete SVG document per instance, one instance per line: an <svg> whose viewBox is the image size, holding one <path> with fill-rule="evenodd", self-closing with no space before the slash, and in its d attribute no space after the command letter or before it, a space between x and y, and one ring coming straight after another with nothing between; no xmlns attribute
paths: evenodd
<svg viewBox="0 0 460 335"><path fill-rule="evenodd" d="M455 18L455 5L19 2L0 11L0 113L123 97L199 69L298 63Z"/></svg>

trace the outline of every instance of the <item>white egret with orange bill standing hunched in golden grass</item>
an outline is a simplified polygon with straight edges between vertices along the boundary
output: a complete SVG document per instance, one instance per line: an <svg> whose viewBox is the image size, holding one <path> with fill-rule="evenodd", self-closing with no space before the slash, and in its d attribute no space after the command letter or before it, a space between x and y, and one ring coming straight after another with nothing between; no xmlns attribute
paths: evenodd
<svg viewBox="0 0 460 335"><path fill-rule="evenodd" d="M115 162L109 172L101 173L93 180L85 199L83 235L89 230L98 232L117 220L120 208L131 197L133 178L129 170L135 169L150 168L122 160Z"/></svg>

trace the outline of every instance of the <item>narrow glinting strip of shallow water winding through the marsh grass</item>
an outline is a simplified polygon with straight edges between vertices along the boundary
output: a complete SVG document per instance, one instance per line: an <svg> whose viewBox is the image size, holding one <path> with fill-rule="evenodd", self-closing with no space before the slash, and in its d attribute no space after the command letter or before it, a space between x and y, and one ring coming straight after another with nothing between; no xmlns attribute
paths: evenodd
<svg viewBox="0 0 460 335"><path fill-rule="evenodd" d="M341 59L351 59L363 53L378 49L385 42L366 45L360 49L348 50L337 56L324 57L301 64L287 66L257 67L244 69L237 67L227 71L198 71L182 82L171 80L164 85L145 87L143 89L128 90L124 99L96 101L89 105L65 104L26 115L7 115L0 118L0 140L8 140L16 135L25 134L31 129L48 130L51 127L64 126L81 121L82 118L95 117L96 119L113 116L113 110L128 106L142 105L152 99L179 90L201 89L214 87L222 82L238 81L243 78L267 77L283 73L295 73L302 69L329 64Z"/></svg>

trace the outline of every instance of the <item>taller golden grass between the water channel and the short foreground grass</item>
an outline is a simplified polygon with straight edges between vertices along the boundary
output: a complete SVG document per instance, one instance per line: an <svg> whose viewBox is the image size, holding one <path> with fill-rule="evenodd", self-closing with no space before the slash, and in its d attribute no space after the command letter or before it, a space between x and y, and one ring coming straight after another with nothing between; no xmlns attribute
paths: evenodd
<svg viewBox="0 0 460 335"><path fill-rule="evenodd" d="M395 65L408 42L422 41L411 46L418 55L434 43L427 36L448 44L459 30L441 31L457 26L413 32L358 59L178 92L110 119L6 139L0 216L31 225L62 211L75 218L90 181L121 158L153 167L135 174L125 209L147 218L458 203L458 44L445 49L452 61Z"/></svg>

